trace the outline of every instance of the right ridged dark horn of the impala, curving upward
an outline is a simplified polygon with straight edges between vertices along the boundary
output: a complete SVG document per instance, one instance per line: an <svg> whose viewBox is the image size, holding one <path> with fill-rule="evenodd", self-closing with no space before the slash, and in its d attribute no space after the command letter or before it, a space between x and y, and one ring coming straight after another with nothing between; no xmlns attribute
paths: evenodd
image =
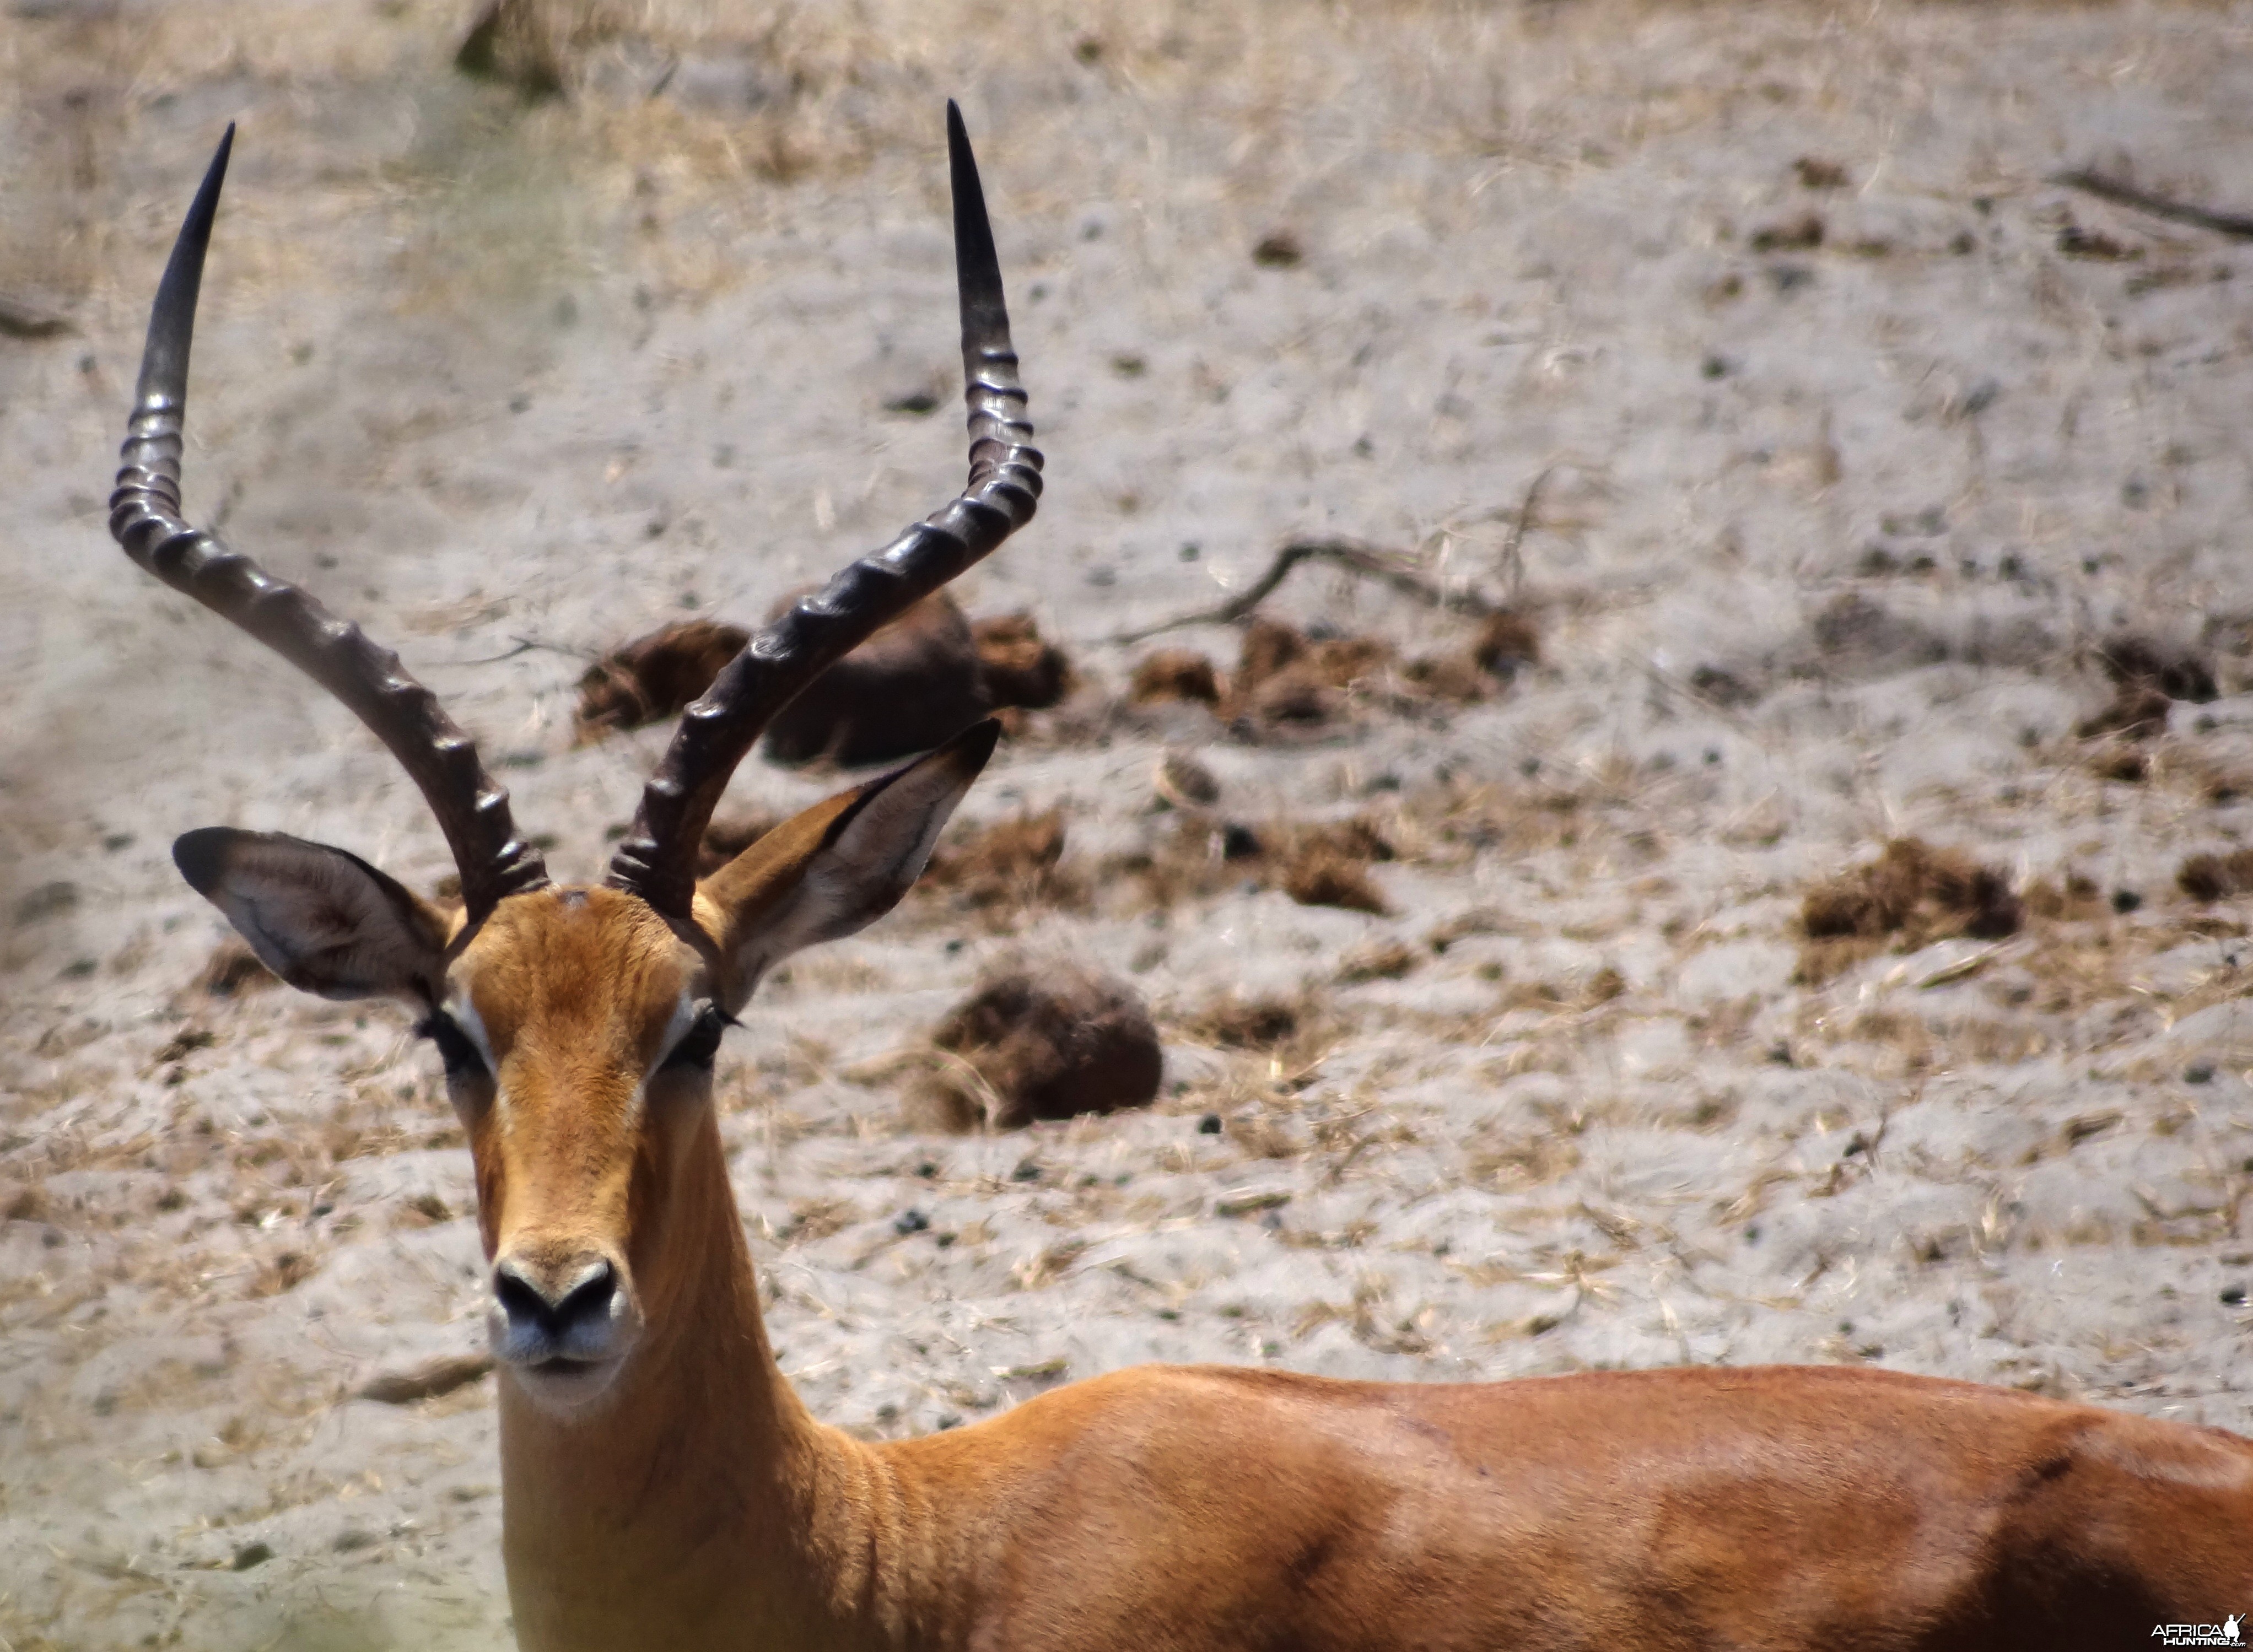
<svg viewBox="0 0 2253 1652"><path fill-rule="evenodd" d="M606 879L671 917L689 917L696 845L734 766L766 723L829 665L1030 523L1041 500L1041 453L1030 446L1032 424L1009 347L994 228L953 99L946 104L946 151L955 196L964 401L971 408L969 485L890 545L791 604L680 714Z"/></svg>

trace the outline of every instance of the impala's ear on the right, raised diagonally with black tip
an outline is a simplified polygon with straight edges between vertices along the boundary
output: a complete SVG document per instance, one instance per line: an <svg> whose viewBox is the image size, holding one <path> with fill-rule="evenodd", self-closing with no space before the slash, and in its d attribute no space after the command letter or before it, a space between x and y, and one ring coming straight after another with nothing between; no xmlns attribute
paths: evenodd
<svg viewBox="0 0 2253 1652"><path fill-rule="evenodd" d="M1000 723L976 723L784 820L696 886L696 922L728 969L730 1014L793 951L867 929L899 904L996 739Z"/></svg>

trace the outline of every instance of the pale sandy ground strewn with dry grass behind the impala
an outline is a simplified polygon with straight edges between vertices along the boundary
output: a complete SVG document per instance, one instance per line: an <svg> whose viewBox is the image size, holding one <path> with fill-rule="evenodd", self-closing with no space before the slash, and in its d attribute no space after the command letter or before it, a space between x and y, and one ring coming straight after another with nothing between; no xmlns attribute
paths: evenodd
<svg viewBox="0 0 2253 1652"><path fill-rule="evenodd" d="M1061 807L1090 892L917 892L730 1037L820 1415L924 1431L1142 1359L1791 1359L2253 1427L2253 915L2176 888L2253 832L2253 259L2046 183L2253 210L2248 23L653 7L520 106L451 72L453 5L18 0L0 293L65 327L0 336L0 1645L507 1643L491 1379L351 1397L480 1341L435 1059L388 1007L203 992L221 922L167 859L234 823L430 883L444 845L345 712L101 530L230 117L192 514L397 642L590 877L662 730L575 748L586 658L757 618L960 478L964 101L1050 496L962 595L1086 678L964 820ZM917 390L944 412L888 410ZM1543 471L1543 665L1505 694L1293 739L1120 708L1151 645L1113 638L1289 534L1510 590ZM1268 606L1469 636L1329 572ZM2120 631L2221 690L2140 782L2075 735ZM1181 829L1167 748L1255 829L1379 823L1388 913L1117 874ZM827 784L755 760L732 807ZM1796 978L1805 892L1897 834L2089 886ZM1354 967L1386 947L1406 974ZM903 1127L885 1057L1014 951L1147 994L1154 1111ZM1295 1032L1226 1048L1232 994Z"/></svg>

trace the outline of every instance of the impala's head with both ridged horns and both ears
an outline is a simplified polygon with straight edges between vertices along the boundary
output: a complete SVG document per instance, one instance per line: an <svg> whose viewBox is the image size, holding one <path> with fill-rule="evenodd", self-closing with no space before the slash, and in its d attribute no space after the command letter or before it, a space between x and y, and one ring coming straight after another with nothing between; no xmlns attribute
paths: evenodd
<svg viewBox="0 0 2253 1652"><path fill-rule="evenodd" d="M444 913L345 850L207 827L187 881L259 958L324 998L397 998L446 1064L478 1170L496 1357L559 1413L602 1395L678 1323L719 1258L685 1253L683 1208L725 1197L712 1057L782 958L888 913L994 753L976 723L768 832L703 881L696 847L759 732L825 667L1032 518L1041 455L962 117L949 104L955 270L971 408L969 487L802 597L689 705L602 886L554 886L509 798L399 656L180 516L180 428L221 142L158 288L110 532L142 568L234 620L342 699L421 787L462 872ZM710 1231L710 1228L705 1228Z"/></svg>

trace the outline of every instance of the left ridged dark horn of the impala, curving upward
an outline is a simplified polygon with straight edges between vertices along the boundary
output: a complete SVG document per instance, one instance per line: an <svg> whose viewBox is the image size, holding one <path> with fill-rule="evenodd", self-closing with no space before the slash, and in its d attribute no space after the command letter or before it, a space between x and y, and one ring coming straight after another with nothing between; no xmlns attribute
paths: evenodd
<svg viewBox="0 0 2253 1652"><path fill-rule="evenodd" d="M110 534L167 586L232 620L345 701L392 748L453 847L462 902L469 924L475 924L505 897L547 883L538 850L516 836L509 793L484 773L478 746L455 728L430 690L399 669L397 654L180 516L187 354L196 334L203 255L212 241L219 185L225 183L232 146L230 124L155 291L149 347L119 453L117 491L110 494Z"/></svg>

